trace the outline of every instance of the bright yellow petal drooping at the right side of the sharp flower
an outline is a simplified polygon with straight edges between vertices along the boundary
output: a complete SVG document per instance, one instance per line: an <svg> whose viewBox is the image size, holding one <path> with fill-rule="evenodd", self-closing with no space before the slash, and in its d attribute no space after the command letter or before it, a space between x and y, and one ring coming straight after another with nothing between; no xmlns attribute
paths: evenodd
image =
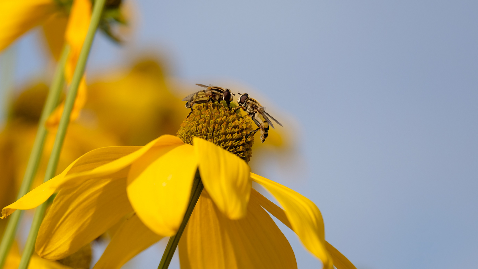
<svg viewBox="0 0 478 269"><path fill-rule="evenodd" d="M326 250L324 221L314 202L270 179L254 173L250 173L250 176L271 192L282 205L293 231L304 246L322 261L324 268L332 269L332 258Z"/></svg>

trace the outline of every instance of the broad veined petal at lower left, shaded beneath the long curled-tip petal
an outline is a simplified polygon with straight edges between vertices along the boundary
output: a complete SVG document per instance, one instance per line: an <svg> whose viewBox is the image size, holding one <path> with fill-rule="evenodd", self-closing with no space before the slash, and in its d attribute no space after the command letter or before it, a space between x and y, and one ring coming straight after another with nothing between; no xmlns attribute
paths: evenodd
<svg viewBox="0 0 478 269"><path fill-rule="evenodd" d="M61 189L46 214L36 239L36 253L46 259L65 258L133 211L126 178L90 179Z"/></svg>

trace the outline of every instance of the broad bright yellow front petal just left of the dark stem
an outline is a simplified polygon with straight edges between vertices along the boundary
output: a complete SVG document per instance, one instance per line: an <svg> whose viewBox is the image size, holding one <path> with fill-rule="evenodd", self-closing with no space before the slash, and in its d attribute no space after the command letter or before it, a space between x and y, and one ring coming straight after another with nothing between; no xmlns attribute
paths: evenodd
<svg viewBox="0 0 478 269"><path fill-rule="evenodd" d="M158 235L174 235L183 221L197 158L191 145L178 146L152 162L132 165L128 197L141 221ZM137 166L141 168L138 169ZM137 173L136 171L141 171Z"/></svg>

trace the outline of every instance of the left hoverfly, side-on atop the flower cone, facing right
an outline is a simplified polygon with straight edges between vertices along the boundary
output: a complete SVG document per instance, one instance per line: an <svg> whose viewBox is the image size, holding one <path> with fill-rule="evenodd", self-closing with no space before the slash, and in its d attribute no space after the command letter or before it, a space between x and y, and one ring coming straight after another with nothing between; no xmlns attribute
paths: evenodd
<svg viewBox="0 0 478 269"><path fill-rule="evenodd" d="M191 112L187 115L188 118L191 113L193 112L193 105L194 104L204 104L208 102L215 102L215 101L226 101L228 108L230 109L230 102L232 101L232 96L236 95L235 93L231 93L231 90L224 89L221 87L214 87L211 84L209 86L203 84L197 84L197 86L206 88L206 90L200 90L195 93L191 93L190 95L183 98L183 101L186 101L186 108L190 108Z"/></svg>

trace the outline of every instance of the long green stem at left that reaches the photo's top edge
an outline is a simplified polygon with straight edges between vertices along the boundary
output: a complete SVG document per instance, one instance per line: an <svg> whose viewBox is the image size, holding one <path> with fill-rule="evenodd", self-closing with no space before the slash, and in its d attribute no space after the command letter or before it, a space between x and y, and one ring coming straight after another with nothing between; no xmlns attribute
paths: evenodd
<svg viewBox="0 0 478 269"><path fill-rule="evenodd" d="M95 1L87 36L81 48L78 62L76 63L75 73L73 74L73 78L68 89L68 94L66 95L65 108L63 110L60 123L58 124L58 131L56 132L55 142L53 144L50 159L48 160L48 165L46 167L43 182L54 177L56 167L58 165L58 159L60 157L60 152L63 146L63 142L65 140L66 129L68 128L68 123L70 122L70 114L73 109L73 105L75 104L76 92L78 91L78 86L80 85L81 78L83 77L83 73L85 72L89 51L91 49L91 44L93 43L96 30L98 28L98 23L105 2L106 0ZM35 247L36 236L38 235L38 230L40 229L40 224L42 223L43 215L45 213L48 202L49 201L44 202L35 210L35 214L33 215L32 227L30 228L30 233L28 234L27 242L25 244L25 248L23 249L22 260L20 261L20 266L18 267L18 269L27 269L28 267L30 258L33 254L33 249Z"/></svg>

